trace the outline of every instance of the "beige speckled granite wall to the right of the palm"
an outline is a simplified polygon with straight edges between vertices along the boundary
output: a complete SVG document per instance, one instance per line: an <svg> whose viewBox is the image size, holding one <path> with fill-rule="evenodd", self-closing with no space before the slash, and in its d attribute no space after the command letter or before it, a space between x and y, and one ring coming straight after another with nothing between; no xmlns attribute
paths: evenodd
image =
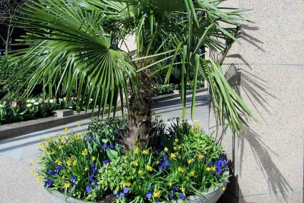
<svg viewBox="0 0 304 203"><path fill-rule="evenodd" d="M209 133L233 160L225 202L302 202L304 131L304 2L230 0L254 9L223 61L230 84L259 123L233 138L217 124L210 103Z"/></svg>

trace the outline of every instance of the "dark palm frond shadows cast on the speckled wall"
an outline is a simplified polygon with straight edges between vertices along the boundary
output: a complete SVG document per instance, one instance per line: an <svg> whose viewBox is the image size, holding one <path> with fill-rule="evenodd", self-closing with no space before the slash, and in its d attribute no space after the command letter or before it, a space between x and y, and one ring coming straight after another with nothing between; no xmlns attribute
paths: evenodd
<svg viewBox="0 0 304 203"><path fill-rule="evenodd" d="M259 50L265 52L265 50L260 46L263 44L260 40L257 38L250 36L246 34L245 30L258 30L258 27L250 27L247 25L241 25L240 31L235 35L235 37L239 39L243 39L250 44L257 47ZM231 47L231 44L228 46L226 53L229 52L229 49ZM211 54L212 55L212 54ZM223 63L224 59L226 57L230 58L239 58L241 64L245 64L250 69L251 66L248 64L247 61L244 60L244 58L240 54L232 54L232 55L216 55L213 54L212 58L215 61L218 61L219 63ZM252 106L258 115L255 115L258 120L261 123L265 123L266 121L263 118L263 115L261 114L259 108L264 108L267 112L271 112L271 106L267 102L267 100L264 99L264 96L258 93L255 89L260 89L264 95L271 96L275 98L276 100L279 100L275 96L271 95L267 92L267 89L269 87L267 86L267 81L247 72L246 70L242 69L240 71L240 66L237 64L230 64L228 65L225 71L225 78L231 85L231 87L236 91L237 94L240 95L240 90L246 96L249 98L250 105ZM242 82L242 86L240 86L240 82ZM214 112L214 104L212 103L212 95L210 95L209 100L209 115L210 113L213 113L213 115L216 115L216 112ZM257 104L261 105L261 107L257 107ZM248 105L248 104L247 104ZM213 111L213 112L211 112ZM244 151L244 142L248 142L250 145L250 148L252 150L252 153L254 155L255 161L260 167L261 173L263 173L264 178L268 182L268 190L269 191L292 191L292 187L288 184L287 180L283 177L282 173L279 171L278 167L275 165L275 163L271 160L271 155L269 153L274 153L264 142L262 142L259 135L257 135L256 132L251 130L250 128L244 127L244 134L240 135L240 137L233 137L231 135L231 132L227 125L224 125L222 127L219 123L219 119L217 115L215 116L216 124L215 126L210 126L209 129L214 130L217 134L214 135L218 144L225 144L229 147L228 150L232 150L232 160L234 160L233 163L230 163L230 175L232 175L229 178L230 183L227 185L227 191L224 192L224 195L219 199L218 202L238 202L238 197L242 197L242 191L240 190L238 186L238 174L235 170L241 171L242 169L242 163L246 160L243 160L244 153L251 153L251 152L245 152ZM229 137L230 136L230 137ZM230 142L230 144L227 144L225 142ZM237 156L237 157L235 157ZM235 166L237 165L237 166ZM277 197L277 194L275 193L275 196ZM284 197L285 198L285 197ZM285 199L285 201L287 201ZM245 202L242 200L242 202Z"/></svg>

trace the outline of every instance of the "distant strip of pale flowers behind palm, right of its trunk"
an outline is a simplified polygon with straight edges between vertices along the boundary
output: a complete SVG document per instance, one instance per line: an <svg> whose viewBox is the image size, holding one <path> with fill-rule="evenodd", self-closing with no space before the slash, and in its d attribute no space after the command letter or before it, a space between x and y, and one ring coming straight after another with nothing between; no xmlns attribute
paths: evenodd
<svg viewBox="0 0 304 203"><path fill-rule="evenodd" d="M187 90L193 89L193 81L187 82ZM197 81L196 88L203 88L205 85L204 81ZM164 95L173 93L174 90L180 90L181 84L167 84L167 85L152 85L152 90L154 91L154 96Z"/></svg>

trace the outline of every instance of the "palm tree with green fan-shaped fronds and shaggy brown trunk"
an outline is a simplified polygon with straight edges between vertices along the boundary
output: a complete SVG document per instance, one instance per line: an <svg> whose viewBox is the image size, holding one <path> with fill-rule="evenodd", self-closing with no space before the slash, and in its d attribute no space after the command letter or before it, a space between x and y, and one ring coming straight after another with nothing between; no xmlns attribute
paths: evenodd
<svg viewBox="0 0 304 203"><path fill-rule="evenodd" d="M192 114L196 80L201 74L209 82L222 123L226 119L232 131L237 132L242 129L241 123L246 124L244 116L254 117L205 48L225 52L229 42L238 42L233 36L238 21L250 20L242 17L246 9L222 8L223 1L33 0L19 11L23 20L14 22L28 32L20 44L30 47L10 52L18 56L24 68L8 83L35 68L23 84L28 85L23 96L46 80L45 86L61 87L68 100L78 85L78 105L82 108L80 99L87 98L88 108L89 99L93 98L93 106L98 106L102 116L107 103L114 107L115 114L120 97L129 116L128 142L139 138L149 143L153 128L150 67L171 61L161 69L168 69L168 82L172 67L181 65L183 117L186 83L193 68ZM233 27L224 28L223 24ZM120 47L130 35L135 36L136 50L123 51Z"/></svg>

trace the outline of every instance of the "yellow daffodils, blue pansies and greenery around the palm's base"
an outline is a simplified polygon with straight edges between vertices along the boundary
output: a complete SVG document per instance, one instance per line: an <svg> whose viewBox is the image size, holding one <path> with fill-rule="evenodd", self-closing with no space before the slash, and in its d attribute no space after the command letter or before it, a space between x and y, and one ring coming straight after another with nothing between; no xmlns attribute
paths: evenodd
<svg viewBox="0 0 304 203"><path fill-rule="evenodd" d="M46 138L39 143L43 155L37 180L66 197L103 202L183 200L212 186L225 190L222 148L199 123L172 121L165 132L156 119L153 143L147 148L135 141L130 151L124 150L126 123L117 118L93 122L86 134Z"/></svg>

